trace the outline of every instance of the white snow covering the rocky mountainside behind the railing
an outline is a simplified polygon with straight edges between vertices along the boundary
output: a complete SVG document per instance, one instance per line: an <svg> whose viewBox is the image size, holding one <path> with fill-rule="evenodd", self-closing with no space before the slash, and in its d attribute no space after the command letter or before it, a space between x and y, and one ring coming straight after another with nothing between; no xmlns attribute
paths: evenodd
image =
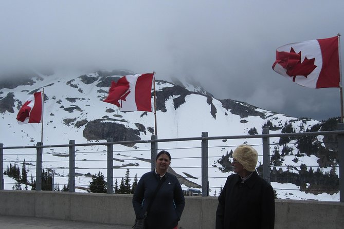
<svg viewBox="0 0 344 229"><path fill-rule="evenodd" d="M41 141L41 125L40 124L17 124L15 117L19 108L20 101L23 102L28 98L28 93L34 89L45 87L45 94L48 98L44 103L44 125L43 125L43 143L44 145L59 145L68 144L69 140L75 140L75 143L95 143L98 141L87 141L83 137L83 130L85 126L76 128L74 124L77 121L86 119L92 121L108 116L117 119L117 123L124 124L130 128L137 129L135 123L141 123L146 127L146 133L140 132L141 140L150 140L151 133L147 130L148 127L154 128L154 113L148 112L147 115L141 114L141 111L121 112L116 106L102 102L107 96L104 92L97 92L100 88L96 85L98 81L92 84L84 84L79 78L83 72L78 73L56 73L49 77L42 75L43 80L35 80L32 86L18 86L14 89L3 88L0 90L0 96L5 97L7 93L15 92L15 107L14 113L8 111L0 113L0 124L2 131L0 132L1 143L7 146L34 146ZM88 73L90 77L97 77L96 73ZM158 80L158 79L157 79ZM78 88L71 87L70 84L77 85ZM50 85L51 86L47 86ZM164 87L171 87L169 83L157 83L156 90L161 90ZM107 91L108 88L101 88ZM200 88L192 89L188 85L190 91L201 91ZM173 96L165 101L166 112L157 110L157 136L158 139L169 138L188 138L201 137L202 132L208 132L209 137L214 136L241 136L248 135L248 130L256 127L258 133L261 134L261 126L267 120L270 120L274 125L281 126L289 120L294 120L293 126L296 131L300 130L303 121L287 117L284 114L277 114L267 110L258 108L257 111L266 113L268 119L262 119L258 116L249 116L240 118L236 114L230 113L230 110L222 107L221 102L213 98L213 105L216 108L216 118L214 119L210 113L211 106L207 103L207 97L200 94L189 94L185 97L185 103L178 108L174 108L173 99L178 96ZM75 103L69 102L66 98L80 98ZM61 102L59 102L61 100ZM64 108L78 106L82 111L74 110L68 112ZM112 108L114 113L105 112L106 109ZM114 117L114 114L122 116ZM64 119L76 119L69 126L64 124ZM241 123L241 120L246 120L247 123ZM307 121L304 124L304 129L316 123L316 120ZM271 131L270 133L279 133L280 131ZM321 138L320 138L321 139ZM105 142L104 140L99 142ZM274 142L278 142L278 138L270 138L270 154L274 149ZM259 152L259 162L262 163L262 139L247 138L247 139L228 139L211 140L209 141L209 186L210 196L216 193L219 194L220 188L224 185L227 176L231 173L222 173L218 167L221 166L216 162L226 152L234 150L239 144L251 144ZM136 148L137 147L137 148ZM294 147L295 148L295 147ZM133 181L135 174L140 178L144 173L151 170L151 164L137 158L150 159L151 158L151 144L139 143L134 147L126 147L123 145L114 145L114 166L119 168L114 169L114 184L116 179L118 184L122 177L125 176L126 168L130 168L130 176ZM201 185L201 141L179 141L179 142L159 142L158 149L166 149L171 153L171 167L173 170L187 178L188 180ZM294 151L294 154L296 152ZM59 155L59 156L57 156ZM55 171L54 183L60 185L68 183L69 162L68 157L61 157L68 155L68 147L47 147L43 149L43 169L52 169ZM86 192L78 187L86 188L92 180L90 177L84 176L89 173L95 175L98 171L102 171L106 177L106 146L77 146L76 147L76 173L75 179L76 192ZM286 170L287 165L293 165L299 168L301 164L306 164L307 168L316 169L318 166L317 158L315 156L298 157L298 162L293 162L295 155L288 155L284 157L281 168ZM5 149L4 150L4 168L6 169L10 163L17 164L22 169L22 163L25 159L28 171L28 180L31 176L35 179L35 161L36 150L26 148ZM130 166L129 163L137 163L138 166ZM276 167L279 169L279 167ZM329 171L331 168L322 169ZM187 177L184 173L191 175L193 178ZM336 169L338 174L338 168ZM79 175L80 174L80 175ZM12 189L15 180L4 176L5 189ZM310 193L301 192L300 187L287 183L280 184L271 182L271 185L277 190L278 198L281 199L296 199L296 200L323 200L323 201L339 201L339 193L334 195L322 193L313 195ZM22 185L23 188L23 185ZM186 189L183 185L183 189ZM30 189L30 187L29 187Z"/></svg>

